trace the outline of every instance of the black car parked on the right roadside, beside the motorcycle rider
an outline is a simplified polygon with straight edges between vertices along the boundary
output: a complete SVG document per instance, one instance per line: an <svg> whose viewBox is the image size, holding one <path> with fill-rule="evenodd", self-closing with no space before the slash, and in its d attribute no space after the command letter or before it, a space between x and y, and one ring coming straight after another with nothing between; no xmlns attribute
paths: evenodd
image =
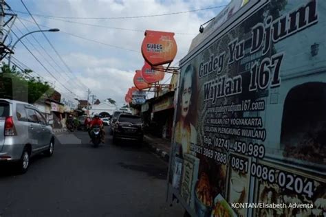
<svg viewBox="0 0 326 217"><path fill-rule="evenodd" d="M142 144L144 129L142 118L136 115L121 113L113 126L113 143L117 139L138 140Z"/></svg>

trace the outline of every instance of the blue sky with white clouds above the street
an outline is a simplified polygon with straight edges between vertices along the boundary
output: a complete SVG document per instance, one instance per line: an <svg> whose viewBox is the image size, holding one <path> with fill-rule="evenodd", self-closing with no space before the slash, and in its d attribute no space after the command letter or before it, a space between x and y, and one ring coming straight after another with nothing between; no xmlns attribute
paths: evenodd
<svg viewBox="0 0 326 217"><path fill-rule="evenodd" d="M35 58L18 43L12 62L32 69L34 76L49 81L66 97L86 100L89 88L90 95L96 95L96 99L112 98L122 106L124 95L134 86L135 70L144 65L140 47L145 30L175 32L177 56L172 65L177 66L186 56L192 39L199 34L199 26L216 16L229 1L23 0L42 30L58 28L61 31L44 33L50 43L40 32L26 36L22 42ZM6 2L19 18L12 27L11 43L17 40L14 34L22 36L39 30L20 0ZM221 7L169 16L126 18L217 6ZM117 17L124 19L112 19ZM169 82L170 77L171 74L166 73L163 82Z"/></svg>

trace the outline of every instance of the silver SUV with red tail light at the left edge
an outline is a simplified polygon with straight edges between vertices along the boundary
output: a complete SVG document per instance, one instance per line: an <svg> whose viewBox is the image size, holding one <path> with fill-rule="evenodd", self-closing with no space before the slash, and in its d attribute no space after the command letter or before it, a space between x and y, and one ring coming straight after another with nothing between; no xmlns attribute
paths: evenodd
<svg viewBox="0 0 326 217"><path fill-rule="evenodd" d="M35 106L15 100L0 99L0 162L17 163L25 173L30 157L40 152L52 156L54 134Z"/></svg>

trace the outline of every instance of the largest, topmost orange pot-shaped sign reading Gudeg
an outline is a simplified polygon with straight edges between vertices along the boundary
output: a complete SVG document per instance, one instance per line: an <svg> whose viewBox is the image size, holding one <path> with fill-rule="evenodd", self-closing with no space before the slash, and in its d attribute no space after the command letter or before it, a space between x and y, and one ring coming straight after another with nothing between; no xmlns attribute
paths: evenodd
<svg viewBox="0 0 326 217"><path fill-rule="evenodd" d="M173 32L146 30L142 41L142 56L150 65L163 65L172 62L177 55L177 43Z"/></svg>

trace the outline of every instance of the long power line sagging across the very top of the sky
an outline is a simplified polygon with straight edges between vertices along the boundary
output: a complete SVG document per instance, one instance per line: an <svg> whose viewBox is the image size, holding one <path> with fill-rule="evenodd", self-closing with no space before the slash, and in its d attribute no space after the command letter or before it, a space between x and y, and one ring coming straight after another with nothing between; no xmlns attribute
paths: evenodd
<svg viewBox="0 0 326 217"><path fill-rule="evenodd" d="M77 16L50 16L46 14L33 14L34 16L40 16L44 18L55 18L55 19L138 19L138 18L146 18L146 17L155 17L155 16L169 16L175 14L186 14L191 12L198 12L203 10L212 10L215 8L223 8L226 5L219 5L210 8L201 8L196 10L186 10L181 12L171 12L171 13L164 13L164 14L149 14L149 15L142 15L142 16L111 16L111 17L77 17ZM28 14L26 12L21 12L18 10L14 10L14 12L21 13L21 14Z"/></svg>

